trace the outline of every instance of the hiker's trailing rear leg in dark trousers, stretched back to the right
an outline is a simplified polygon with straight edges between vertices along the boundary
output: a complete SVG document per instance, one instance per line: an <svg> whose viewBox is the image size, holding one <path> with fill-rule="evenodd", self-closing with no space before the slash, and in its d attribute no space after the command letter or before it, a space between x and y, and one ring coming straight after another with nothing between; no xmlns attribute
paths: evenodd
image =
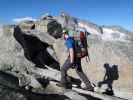
<svg viewBox="0 0 133 100"><path fill-rule="evenodd" d="M87 89L89 90L93 90L93 87L91 85L91 82L89 81L89 79L87 78L87 76L85 75L85 73L83 72L82 70L82 67L81 67L81 60L78 60L76 62L76 72L77 74L79 75L79 77L82 79L82 81L85 83Z"/></svg>

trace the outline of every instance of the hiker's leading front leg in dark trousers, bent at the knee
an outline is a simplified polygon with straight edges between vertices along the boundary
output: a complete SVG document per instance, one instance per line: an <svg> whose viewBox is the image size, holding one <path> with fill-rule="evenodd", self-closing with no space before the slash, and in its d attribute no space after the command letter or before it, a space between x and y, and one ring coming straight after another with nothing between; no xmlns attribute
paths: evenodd
<svg viewBox="0 0 133 100"><path fill-rule="evenodd" d="M61 84L67 87L67 70L71 67L69 58L65 61L64 65L61 67Z"/></svg>

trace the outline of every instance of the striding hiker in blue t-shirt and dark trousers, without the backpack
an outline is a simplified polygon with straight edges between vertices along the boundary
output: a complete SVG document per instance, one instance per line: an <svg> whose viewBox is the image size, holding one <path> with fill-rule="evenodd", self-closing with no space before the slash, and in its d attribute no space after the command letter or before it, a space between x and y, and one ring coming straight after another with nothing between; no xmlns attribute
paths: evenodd
<svg viewBox="0 0 133 100"><path fill-rule="evenodd" d="M77 54L75 53L75 40L73 37L71 37L68 34L67 30L63 30L63 35L65 39L65 45L68 48L68 58L65 61L64 65L61 68L61 85L65 88L68 87L68 81L67 81L67 71L69 68L74 68L76 69L77 74L79 77L82 79L82 81L86 85L86 89L89 91L94 91L94 88L91 85L91 82L85 75L85 73L82 70L81 67L81 57L78 57Z"/></svg>

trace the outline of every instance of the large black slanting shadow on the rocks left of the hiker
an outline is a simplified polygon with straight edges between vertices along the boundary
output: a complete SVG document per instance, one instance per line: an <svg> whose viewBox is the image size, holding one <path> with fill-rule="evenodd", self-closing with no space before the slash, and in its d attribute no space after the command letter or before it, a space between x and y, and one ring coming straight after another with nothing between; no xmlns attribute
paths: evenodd
<svg viewBox="0 0 133 100"><path fill-rule="evenodd" d="M14 38L22 46L24 56L36 67L46 68L47 65L60 70L60 64L46 50L49 44L42 42L36 36L25 34L18 26L14 28Z"/></svg>

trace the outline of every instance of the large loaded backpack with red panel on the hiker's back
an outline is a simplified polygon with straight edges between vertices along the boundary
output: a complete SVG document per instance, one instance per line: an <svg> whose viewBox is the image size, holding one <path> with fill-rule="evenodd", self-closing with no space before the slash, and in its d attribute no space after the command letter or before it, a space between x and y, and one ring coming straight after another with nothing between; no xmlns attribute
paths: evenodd
<svg viewBox="0 0 133 100"><path fill-rule="evenodd" d="M68 34L74 39L76 57L83 58L88 56L86 32L81 30L69 30Z"/></svg>

